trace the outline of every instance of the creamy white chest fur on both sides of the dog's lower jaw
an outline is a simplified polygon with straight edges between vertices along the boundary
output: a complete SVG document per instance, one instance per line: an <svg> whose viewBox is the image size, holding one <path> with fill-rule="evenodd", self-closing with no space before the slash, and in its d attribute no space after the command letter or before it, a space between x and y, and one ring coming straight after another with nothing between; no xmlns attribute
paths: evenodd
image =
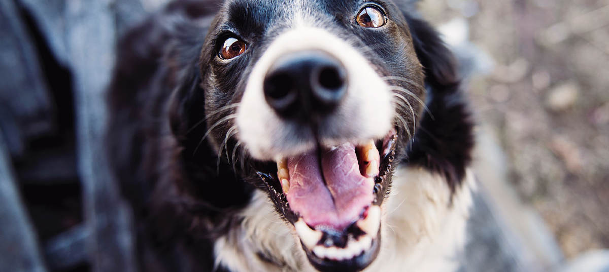
<svg viewBox="0 0 609 272"><path fill-rule="evenodd" d="M396 171L382 207L381 251L365 271L456 271L475 187L468 171L451 203L450 188L440 175L422 168ZM256 192L243 216L239 228L217 241L217 265L233 272L315 271L294 228L280 219L264 192ZM263 262L258 252L276 264Z"/></svg>

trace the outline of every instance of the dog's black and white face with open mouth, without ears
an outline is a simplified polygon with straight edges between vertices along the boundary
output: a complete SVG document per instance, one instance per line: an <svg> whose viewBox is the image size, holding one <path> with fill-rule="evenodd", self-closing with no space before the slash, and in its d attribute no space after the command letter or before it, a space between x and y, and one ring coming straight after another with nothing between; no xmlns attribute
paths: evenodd
<svg viewBox="0 0 609 272"><path fill-rule="evenodd" d="M385 0L230 0L200 65L205 136L268 190L311 264L370 265L425 100L404 13Z"/></svg>

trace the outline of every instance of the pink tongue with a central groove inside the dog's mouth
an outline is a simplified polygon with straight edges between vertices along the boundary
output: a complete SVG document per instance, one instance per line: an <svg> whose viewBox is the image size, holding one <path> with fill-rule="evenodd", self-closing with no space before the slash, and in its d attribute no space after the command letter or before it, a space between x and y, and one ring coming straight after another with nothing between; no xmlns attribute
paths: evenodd
<svg viewBox="0 0 609 272"><path fill-rule="evenodd" d="M359 219L374 199L374 180L359 172L355 146L351 143L322 155L327 187L314 151L288 158L287 167L290 171L287 202L313 228L343 231Z"/></svg>

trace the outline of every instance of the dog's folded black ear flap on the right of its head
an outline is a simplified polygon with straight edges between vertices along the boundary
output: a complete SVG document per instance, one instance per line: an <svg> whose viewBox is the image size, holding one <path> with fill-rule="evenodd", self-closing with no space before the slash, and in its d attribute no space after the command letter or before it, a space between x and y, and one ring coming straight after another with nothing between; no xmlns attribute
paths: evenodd
<svg viewBox="0 0 609 272"><path fill-rule="evenodd" d="M416 16L405 14L415 52L423 65L426 84L431 87L452 87L459 84L456 60L435 29Z"/></svg>

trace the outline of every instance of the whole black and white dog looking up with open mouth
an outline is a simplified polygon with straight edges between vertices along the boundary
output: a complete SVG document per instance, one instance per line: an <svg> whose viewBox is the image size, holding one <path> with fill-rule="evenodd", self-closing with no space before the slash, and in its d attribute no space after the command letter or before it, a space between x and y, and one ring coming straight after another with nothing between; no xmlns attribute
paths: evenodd
<svg viewBox="0 0 609 272"><path fill-rule="evenodd" d="M142 271L454 271L473 124L408 0L179 0L119 44Z"/></svg>

